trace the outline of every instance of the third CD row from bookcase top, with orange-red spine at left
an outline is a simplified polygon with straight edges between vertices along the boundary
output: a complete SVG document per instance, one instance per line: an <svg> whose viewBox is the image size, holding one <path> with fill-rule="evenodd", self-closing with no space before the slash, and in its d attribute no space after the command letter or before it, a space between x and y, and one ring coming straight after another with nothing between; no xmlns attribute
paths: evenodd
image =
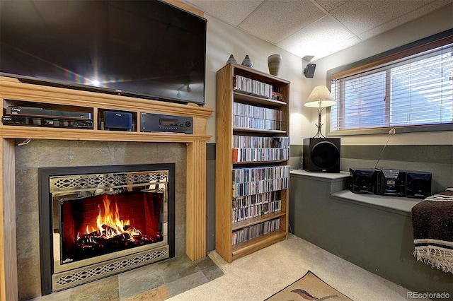
<svg viewBox="0 0 453 301"><path fill-rule="evenodd" d="M233 136L233 162L289 160L289 137Z"/></svg>

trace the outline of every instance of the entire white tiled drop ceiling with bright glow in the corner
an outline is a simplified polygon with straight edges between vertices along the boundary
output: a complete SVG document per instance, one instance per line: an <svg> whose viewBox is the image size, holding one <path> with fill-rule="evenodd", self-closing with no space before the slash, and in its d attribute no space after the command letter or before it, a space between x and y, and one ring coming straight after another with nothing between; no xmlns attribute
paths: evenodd
<svg viewBox="0 0 453 301"><path fill-rule="evenodd" d="M187 0L205 15L316 61L453 0ZM452 11L453 18L453 11Z"/></svg>

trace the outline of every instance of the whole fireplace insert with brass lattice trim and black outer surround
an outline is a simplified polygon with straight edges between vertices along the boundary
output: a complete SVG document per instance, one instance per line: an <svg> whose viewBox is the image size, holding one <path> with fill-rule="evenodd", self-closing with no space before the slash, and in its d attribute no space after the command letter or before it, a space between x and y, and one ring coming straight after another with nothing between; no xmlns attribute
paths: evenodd
<svg viewBox="0 0 453 301"><path fill-rule="evenodd" d="M175 164L38 171L42 295L175 256Z"/></svg>

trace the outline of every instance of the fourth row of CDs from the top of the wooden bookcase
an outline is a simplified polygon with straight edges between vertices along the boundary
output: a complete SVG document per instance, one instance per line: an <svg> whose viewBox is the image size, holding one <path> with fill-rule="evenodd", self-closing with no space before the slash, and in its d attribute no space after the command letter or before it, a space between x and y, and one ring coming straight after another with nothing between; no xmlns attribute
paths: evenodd
<svg viewBox="0 0 453 301"><path fill-rule="evenodd" d="M233 169L233 197L289 188L289 165Z"/></svg>

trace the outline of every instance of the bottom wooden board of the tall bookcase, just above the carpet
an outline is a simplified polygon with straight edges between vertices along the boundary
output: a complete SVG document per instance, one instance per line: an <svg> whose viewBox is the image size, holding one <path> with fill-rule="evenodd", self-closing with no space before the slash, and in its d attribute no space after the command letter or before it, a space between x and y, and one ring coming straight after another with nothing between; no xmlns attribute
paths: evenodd
<svg viewBox="0 0 453 301"><path fill-rule="evenodd" d="M236 260L239 257L256 252L258 249L263 249L271 244L285 240L286 238L287 233L284 230L279 229L265 235L255 237L252 240L235 244L232 248L232 258L233 260Z"/></svg>

